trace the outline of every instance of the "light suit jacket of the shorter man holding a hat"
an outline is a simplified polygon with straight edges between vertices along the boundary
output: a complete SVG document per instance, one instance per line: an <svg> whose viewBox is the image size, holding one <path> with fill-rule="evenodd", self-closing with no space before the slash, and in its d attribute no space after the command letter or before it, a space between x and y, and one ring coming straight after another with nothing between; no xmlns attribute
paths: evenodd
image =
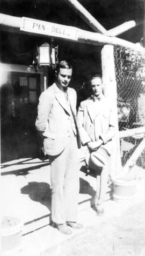
<svg viewBox="0 0 145 256"><path fill-rule="evenodd" d="M112 104L102 95L99 108L94 110L93 99L81 102L77 123L82 145L102 138L104 149L111 153L111 139L115 134L115 116Z"/></svg>

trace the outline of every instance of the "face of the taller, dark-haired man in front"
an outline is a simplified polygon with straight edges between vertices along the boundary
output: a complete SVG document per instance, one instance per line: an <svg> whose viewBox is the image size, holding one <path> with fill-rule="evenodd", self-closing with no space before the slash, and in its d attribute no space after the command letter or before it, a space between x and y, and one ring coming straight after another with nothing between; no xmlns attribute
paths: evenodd
<svg viewBox="0 0 145 256"><path fill-rule="evenodd" d="M62 69L60 68L56 76L56 82L61 87L67 87L72 75L72 69Z"/></svg>

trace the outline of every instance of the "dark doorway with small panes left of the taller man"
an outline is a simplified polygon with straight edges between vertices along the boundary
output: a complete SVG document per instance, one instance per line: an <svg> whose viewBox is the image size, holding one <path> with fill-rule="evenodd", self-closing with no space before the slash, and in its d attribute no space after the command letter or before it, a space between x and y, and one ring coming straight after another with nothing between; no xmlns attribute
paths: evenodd
<svg viewBox="0 0 145 256"><path fill-rule="evenodd" d="M2 162L37 156L35 119L40 95L40 75L10 72L1 86Z"/></svg>

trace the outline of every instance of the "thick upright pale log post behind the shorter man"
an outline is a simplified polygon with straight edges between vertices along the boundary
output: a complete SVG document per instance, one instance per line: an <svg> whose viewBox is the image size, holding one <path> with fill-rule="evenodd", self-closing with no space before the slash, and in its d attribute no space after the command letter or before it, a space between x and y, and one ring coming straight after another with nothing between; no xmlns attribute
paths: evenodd
<svg viewBox="0 0 145 256"><path fill-rule="evenodd" d="M115 79L114 48L113 45L105 45L102 49L102 78L104 84L104 96L114 105L116 136L112 139L111 176L121 174L120 139L117 114L117 83Z"/></svg>

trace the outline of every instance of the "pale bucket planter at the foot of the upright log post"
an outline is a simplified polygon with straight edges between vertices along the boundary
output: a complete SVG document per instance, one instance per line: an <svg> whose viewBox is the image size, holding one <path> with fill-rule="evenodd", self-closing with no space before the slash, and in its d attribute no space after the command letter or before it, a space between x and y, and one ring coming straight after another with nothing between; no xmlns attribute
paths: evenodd
<svg viewBox="0 0 145 256"><path fill-rule="evenodd" d="M137 179L128 175L116 177L113 180L113 198L115 201L134 199Z"/></svg>

